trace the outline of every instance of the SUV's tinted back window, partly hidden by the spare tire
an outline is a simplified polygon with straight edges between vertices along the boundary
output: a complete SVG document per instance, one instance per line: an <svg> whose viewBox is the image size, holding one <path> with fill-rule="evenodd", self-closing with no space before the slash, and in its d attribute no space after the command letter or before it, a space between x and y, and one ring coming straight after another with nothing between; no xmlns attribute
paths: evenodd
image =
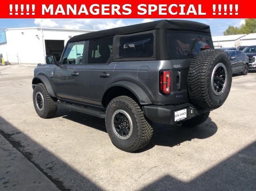
<svg viewBox="0 0 256 191"><path fill-rule="evenodd" d="M167 41L171 58L190 58L200 51L200 47L213 48L210 34L201 32L168 31Z"/></svg>

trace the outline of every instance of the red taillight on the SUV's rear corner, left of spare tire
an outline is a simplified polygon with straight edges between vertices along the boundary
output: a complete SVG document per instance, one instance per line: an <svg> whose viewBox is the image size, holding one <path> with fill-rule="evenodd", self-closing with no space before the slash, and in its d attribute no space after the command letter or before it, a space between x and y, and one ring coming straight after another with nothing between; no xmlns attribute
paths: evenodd
<svg viewBox="0 0 256 191"><path fill-rule="evenodd" d="M170 94L171 92L171 73L170 71L160 71L160 92Z"/></svg>

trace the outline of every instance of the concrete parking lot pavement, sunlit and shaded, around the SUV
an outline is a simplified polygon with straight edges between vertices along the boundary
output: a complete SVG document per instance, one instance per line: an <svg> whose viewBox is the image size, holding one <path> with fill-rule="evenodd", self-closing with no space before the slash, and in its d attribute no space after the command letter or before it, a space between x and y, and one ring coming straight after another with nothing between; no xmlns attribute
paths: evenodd
<svg viewBox="0 0 256 191"><path fill-rule="evenodd" d="M33 70L0 67L0 190L256 190L256 73L234 75L204 124L154 124L150 144L126 153L103 119L62 108L38 117Z"/></svg>

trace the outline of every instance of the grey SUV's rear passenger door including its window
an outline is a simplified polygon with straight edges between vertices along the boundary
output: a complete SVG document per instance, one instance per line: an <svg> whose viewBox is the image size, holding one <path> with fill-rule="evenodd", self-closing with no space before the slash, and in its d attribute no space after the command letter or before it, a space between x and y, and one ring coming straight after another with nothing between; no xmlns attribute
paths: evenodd
<svg viewBox="0 0 256 191"><path fill-rule="evenodd" d="M79 71L82 102L85 104L102 106L101 98L113 79L112 47L113 37L88 41L86 64Z"/></svg>

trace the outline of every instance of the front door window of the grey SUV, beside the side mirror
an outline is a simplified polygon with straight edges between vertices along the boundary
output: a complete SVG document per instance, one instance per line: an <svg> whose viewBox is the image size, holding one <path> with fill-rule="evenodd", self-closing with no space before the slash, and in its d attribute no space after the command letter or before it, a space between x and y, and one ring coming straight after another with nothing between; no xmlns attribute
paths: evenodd
<svg viewBox="0 0 256 191"><path fill-rule="evenodd" d="M62 64L83 64L85 41L69 43L63 56Z"/></svg>

